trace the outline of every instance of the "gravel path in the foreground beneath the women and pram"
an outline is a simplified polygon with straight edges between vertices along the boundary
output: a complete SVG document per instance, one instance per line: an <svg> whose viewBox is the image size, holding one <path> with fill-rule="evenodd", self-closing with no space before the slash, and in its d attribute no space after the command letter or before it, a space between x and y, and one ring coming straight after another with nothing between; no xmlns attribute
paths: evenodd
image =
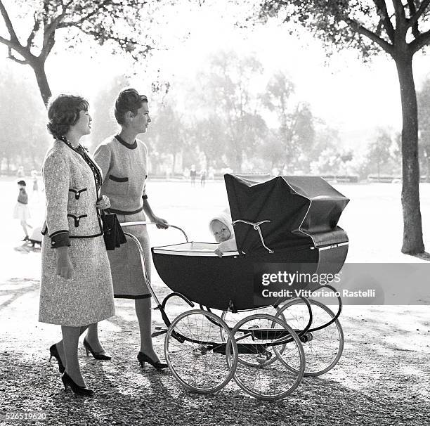
<svg viewBox="0 0 430 426"><path fill-rule="evenodd" d="M230 382L217 394L185 391L169 371L141 369L133 303L117 301L117 316L100 324L112 361L80 363L96 396L65 394L48 347L56 326L37 323L39 283L0 284L0 425L428 425L430 424L428 306L345 306L345 349L321 377L305 377L282 401L258 401ZM159 285L160 294L167 293ZM170 316L182 311L172 306ZM376 318L376 319L375 319ZM11 327L13 325L13 327ZM155 311L153 326L162 326ZM163 337L155 339L159 354ZM46 413L46 420L6 422L1 413Z"/></svg>

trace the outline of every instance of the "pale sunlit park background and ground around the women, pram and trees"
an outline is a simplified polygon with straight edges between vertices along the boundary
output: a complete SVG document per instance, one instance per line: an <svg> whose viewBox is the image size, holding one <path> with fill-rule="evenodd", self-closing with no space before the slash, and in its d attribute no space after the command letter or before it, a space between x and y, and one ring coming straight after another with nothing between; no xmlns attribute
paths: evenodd
<svg viewBox="0 0 430 426"><path fill-rule="evenodd" d="M2 3L19 22L20 37L27 37L31 7L39 2ZM135 86L150 99L152 123L142 139L150 153L151 205L160 217L184 228L190 239L209 240L207 222L226 207L223 172L323 175L351 199L339 222L350 239L347 262L424 263L400 252L402 117L392 60L382 55L363 63L353 49L327 58L323 44L304 30L292 31L276 20L256 27L235 25L247 12L240 2L199 3L178 1L171 7L170 2L160 2L152 21L143 20L136 27L139 34L155 39L157 49L138 60L109 41L99 44L73 30L67 37L57 37L46 73L53 93L89 98L93 131L85 145L92 151L116 131L115 96L123 86ZM31 68L8 60L6 47L0 46L0 52L0 193L5 203L0 210L4 224L0 356L7 366L0 373L2 411L32 406L51 413L48 423L58 425L70 421L104 425L113 420L174 425L262 420L268 425L301 425L305 420L312 425L416 425L429 420L428 303L346 306L341 317L346 346L339 365L321 378L304 381L285 401L266 404L243 396L233 384L214 396L193 396L183 392L174 377L142 374L133 364L137 348L133 306L117 301L117 316L100 327L116 362L100 366L89 360L83 368L84 374L100 380L96 386L101 398L86 404L63 399L56 368L46 360L59 329L37 323L40 253L20 242L20 226L11 219L22 167L28 180L30 223L43 222L43 193L32 193L30 174L40 172L51 141L46 110ZM429 108L429 65L428 56L415 55L419 113L424 117ZM282 113L281 99L287 100ZM245 132L234 124L237 111L246 117ZM421 120L419 191L428 247L425 125ZM187 169L193 164L197 171L213 169L214 179L208 176L204 187L197 179L191 186ZM152 230L150 235L152 245L181 240L173 230ZM160 295L167 294L156 273L152 281ZM174 306L169 314L183 308ZM162 326L157 312L154 326ZM155 346L162 353L162 338ZM211 409L205 410L207 406Z"/></svg>

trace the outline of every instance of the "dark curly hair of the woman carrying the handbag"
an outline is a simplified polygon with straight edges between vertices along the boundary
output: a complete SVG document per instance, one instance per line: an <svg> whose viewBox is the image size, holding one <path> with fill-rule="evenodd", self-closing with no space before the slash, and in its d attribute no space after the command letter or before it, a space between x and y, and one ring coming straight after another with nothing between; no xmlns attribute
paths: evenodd
<svg viewBox="0 0 430 426"><path fill-rule="evenodd" d="M89 103L82 96L59 95L48 105L49 133L56 139L65 136L79 120L79 112L88 111Z"/></svg>

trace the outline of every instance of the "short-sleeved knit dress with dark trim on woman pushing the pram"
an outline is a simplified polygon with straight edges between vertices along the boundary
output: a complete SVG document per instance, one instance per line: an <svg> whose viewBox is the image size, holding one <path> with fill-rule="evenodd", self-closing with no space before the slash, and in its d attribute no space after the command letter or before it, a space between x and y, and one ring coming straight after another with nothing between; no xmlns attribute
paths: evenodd
<svg viewBox="0 0 430 426"><path fill-rule="evenodd" d="M120 223L145 221L143 199L148 198L145 182L148 177L148 150L145 143L136 139L132 145L119 136L111 136L96 148L96 160L103 172L101 193L110 199L110 209ZM145 225L128 226L124 231L138 238L145 256L145 269L150 277L150 242ZM107 252L112 273L115 297L144 299L151 297L136 243L127 243Z"/></svg>

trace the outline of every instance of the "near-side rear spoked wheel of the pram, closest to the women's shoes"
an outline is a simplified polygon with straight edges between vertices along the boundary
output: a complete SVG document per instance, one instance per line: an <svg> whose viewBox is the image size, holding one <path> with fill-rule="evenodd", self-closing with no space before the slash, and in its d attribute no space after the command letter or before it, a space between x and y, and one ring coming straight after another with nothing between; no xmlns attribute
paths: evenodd
<svg viewBox="0 0 430 426"><path fill-rule="evenodd" d="M230 363L226 363L226 342L221 341L220 328L230 342ZM171 373L190 391L219 391L231 380L237 365L237 345L232 339L233 333L219 316L200 309L183 312L172 321L164 340Z"/></svg>

